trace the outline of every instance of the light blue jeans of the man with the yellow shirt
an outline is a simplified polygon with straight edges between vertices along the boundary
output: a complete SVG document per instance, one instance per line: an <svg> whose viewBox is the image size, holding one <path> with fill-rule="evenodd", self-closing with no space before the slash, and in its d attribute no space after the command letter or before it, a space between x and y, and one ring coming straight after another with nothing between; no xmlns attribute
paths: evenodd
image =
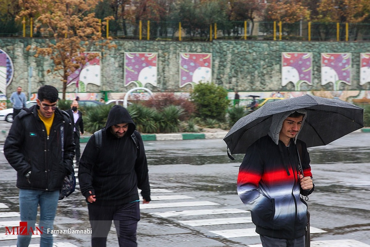
<svg viewBox="0 0 370 247"><path fill-rule="evenodd" d="M19 190L19 211L21 221L27 221L27 232L30 232L30 227L36 234L36 216L37 207L40 205L40 224L39 229L43 231L40 234L40 247L53 246L53 234L48 234L47 229L53 230L55 213L57 212L59 199L59 190L43 191L43 190ZM43 227L43 228L42 228ZM32 233L29 235L18 235L17 247L27 247L30 244Z"/></svg>

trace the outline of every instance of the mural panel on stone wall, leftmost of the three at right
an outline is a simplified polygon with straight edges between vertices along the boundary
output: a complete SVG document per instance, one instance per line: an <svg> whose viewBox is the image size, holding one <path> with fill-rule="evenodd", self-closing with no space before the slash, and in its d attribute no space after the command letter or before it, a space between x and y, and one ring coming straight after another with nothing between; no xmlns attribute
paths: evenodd
<svg viewBox="0 0 370 247"><path fill-rule="evenodd" d="M281 84L294 84L295 90L300 90L302 83L312 85L312 53L282 52Z"/></svg>

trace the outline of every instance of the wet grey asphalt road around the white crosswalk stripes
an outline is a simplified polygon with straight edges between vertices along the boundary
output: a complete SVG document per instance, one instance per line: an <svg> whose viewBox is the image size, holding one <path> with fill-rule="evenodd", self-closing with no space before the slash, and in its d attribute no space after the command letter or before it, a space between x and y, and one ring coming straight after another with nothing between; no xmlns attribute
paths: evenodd
<svg viewBox="0 0 370 247"><path fill-rule="evenodd" d="M351 133L327 146L309 149L316 186L308 201L311 226L326 231L311 234L311 241L350 239L370 245L369 140L370 133ZM164 211L225 208L245 210L236 193L236 177L242 155L236 155L235 161L229 160L226 145L221 139L147 141L144 145L151 188L153 191L156 190L152 196L159 198L147 205L180 204L178 207L141 209L141 221L138 226L139 246L239 247L260 243L258 236L226 238L213 233L228 229L254 228L253 223L206 226L192 226L188 223L189 220L217 221L222 218L248 217L250 216L248 213L178 217L162 217L158 214ZM81 148L84 146L85 144L81 144ZM0 149L3 149L2 145ZM1 212L17 212L19 209L18 189L15 186L16 173L3 154L0 154L0 175L0 203L9 206L6 209L2 208ZM165 196L172 199L162 200L161 196L162 199L165 199ZM194 201L206 201L213 205L180 207L181 204ZM0 221L3 220L4 218L0 218ZM90 228L87 206L78 188L58 205L55 229L65 228ZM0 246L14 245L15 242L1 240ZM38 242L37 238L31 241ZM87 247L90 246L90 236L58 234L54 242ZM117 246L113 229L108 236L107 246Z"/></svg>

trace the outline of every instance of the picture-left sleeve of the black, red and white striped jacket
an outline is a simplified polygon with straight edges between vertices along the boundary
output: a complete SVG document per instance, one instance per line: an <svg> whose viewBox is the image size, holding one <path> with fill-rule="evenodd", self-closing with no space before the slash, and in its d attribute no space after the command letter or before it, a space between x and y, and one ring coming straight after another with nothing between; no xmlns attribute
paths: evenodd
<svg viewBox="0 0 370 247"><path fill-rule="evenodd" d="M263 161L260 156L260 151L256 150L255 146L248 148L239 167L237 190L240 199L250 211L269 220L274 214L272 200L258 190L263 173Z"/></svg>

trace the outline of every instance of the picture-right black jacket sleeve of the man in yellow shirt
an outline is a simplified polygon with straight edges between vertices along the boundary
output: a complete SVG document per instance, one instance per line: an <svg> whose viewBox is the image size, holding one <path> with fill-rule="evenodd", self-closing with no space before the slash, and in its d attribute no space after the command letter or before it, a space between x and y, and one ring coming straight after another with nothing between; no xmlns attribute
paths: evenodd
<svg viewBox="0 0 370 247"><path fill-rule="evenodd" d="M63 162L65 167L67 168L67 174L74 174L74 166L73 166L73 157L75 153L75 144L73 140L73 128L71 124L71 119L66 119L67 124L65 124L65 137L64 137L64 156Z"/></svg>

